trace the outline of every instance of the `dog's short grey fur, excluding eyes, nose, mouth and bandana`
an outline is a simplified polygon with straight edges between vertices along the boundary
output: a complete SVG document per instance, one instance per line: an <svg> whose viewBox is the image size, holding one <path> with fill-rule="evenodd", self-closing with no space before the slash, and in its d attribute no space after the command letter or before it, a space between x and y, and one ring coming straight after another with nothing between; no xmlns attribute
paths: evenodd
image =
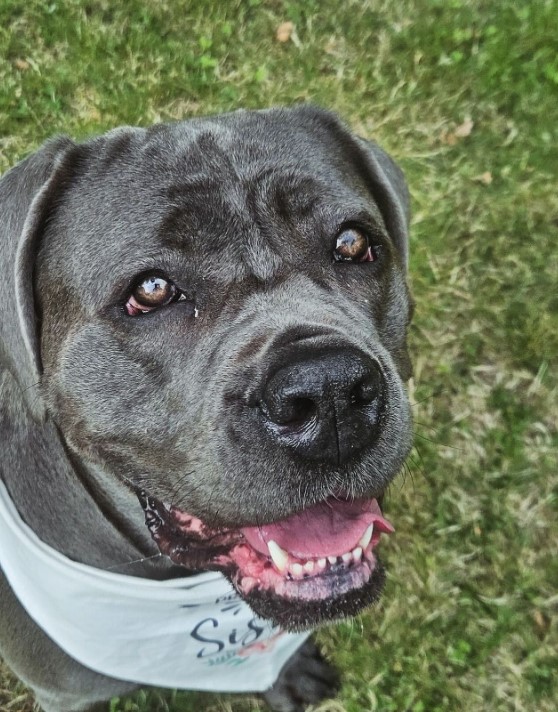
<svg viewBox="0 0 558 712"><path fill-rule="evenodd" d="M131 484L238 527L288 516L339 482L379 495L400 469L408 193L391 159L332 114L239 111L55 139L3 177L0 209L0 475L51 546L167 578L166 560L126 565L157 551ZM331 260L338 226L363 214L385 243L384 267L364 281ZM126 291L149 269L169 274L191 310L127 317ZM310 467L250 430L253 384L285 357L284 334L310 329L380 364L386 420L357 463ZM67 658L1 577L0 589L0 650L47 712L132 689ZM270 703L299 709L284 695Z"/></svg>

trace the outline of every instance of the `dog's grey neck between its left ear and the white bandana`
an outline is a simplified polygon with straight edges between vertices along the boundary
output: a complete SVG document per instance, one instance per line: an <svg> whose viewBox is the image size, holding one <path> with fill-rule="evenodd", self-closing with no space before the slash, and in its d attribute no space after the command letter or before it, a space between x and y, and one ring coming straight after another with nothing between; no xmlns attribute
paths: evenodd
<svg viewBox="0 0 558 712"><path fill-rule="evenodd" d="M78 470L55 423L33 419L6 371L0 372L0 400L7 435L0 479L39 538L80 563L166 578L170 562L157 556L135 495L100 470Z"/></svg>

